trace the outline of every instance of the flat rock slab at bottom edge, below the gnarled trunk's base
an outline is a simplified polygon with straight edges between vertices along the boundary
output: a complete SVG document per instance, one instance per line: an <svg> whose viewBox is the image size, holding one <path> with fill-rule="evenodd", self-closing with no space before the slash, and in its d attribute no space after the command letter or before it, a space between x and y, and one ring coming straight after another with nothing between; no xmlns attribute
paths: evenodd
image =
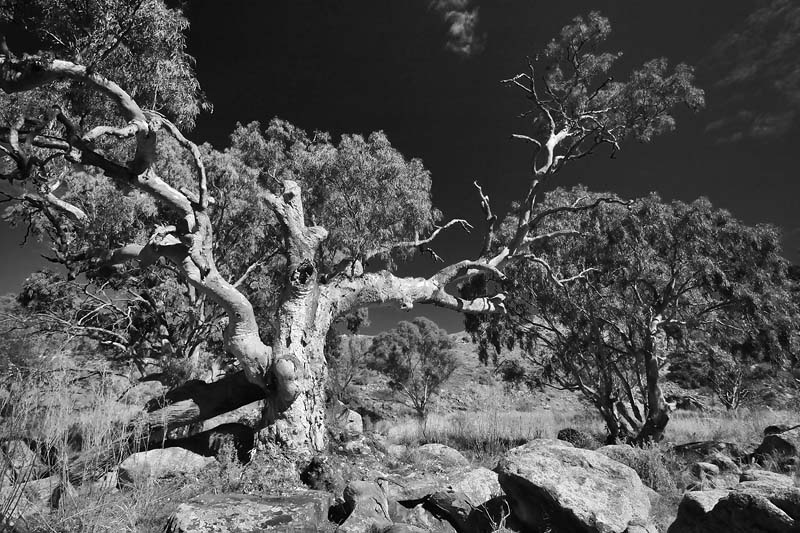
<svg viewBox="0 0 800 533"><path fill-rule="evenodd" d="M328 509L333 496L309 490L288 496L206 494L182 503L165 533L264 533L333 531Z"/></svg>

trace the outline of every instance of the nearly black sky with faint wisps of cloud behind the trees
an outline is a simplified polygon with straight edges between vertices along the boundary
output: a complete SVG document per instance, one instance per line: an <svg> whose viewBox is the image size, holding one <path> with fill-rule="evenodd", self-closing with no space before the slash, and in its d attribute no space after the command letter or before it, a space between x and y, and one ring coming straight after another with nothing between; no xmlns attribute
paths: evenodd
<svg viewBox="0 0 800 533"><path fill-rule="evenodd" d="M526 55L574 16L598 9L614 28L608 49L625 53L618 79L657 56L690 63L707 91L707 109L680 112L675 133L625 145L616 159L599 155L565 169L560 184L627 197L704 195L748 223L781 226L787 257L800 258L800 4L792 0L191 0L187 6L190 52L215 108L199 121L194 140L221 147L237 121L266 123L273 116L333 134L384 130L431 170L434 200L445 216L476 224L473 180L503 212L528 179L526 146L509 140L522 129L515 117L525 102L499 80L520 72ZM35 247L16 247L18 232L0 239L8 254L0 262L2 294L17 290L39 263ZM479 241L453 230L437 250L458 260L474 255ZM462 327L454 313L422 307L414 313L451 331ZM372 316L374 330L410 315Z"/></svg>

